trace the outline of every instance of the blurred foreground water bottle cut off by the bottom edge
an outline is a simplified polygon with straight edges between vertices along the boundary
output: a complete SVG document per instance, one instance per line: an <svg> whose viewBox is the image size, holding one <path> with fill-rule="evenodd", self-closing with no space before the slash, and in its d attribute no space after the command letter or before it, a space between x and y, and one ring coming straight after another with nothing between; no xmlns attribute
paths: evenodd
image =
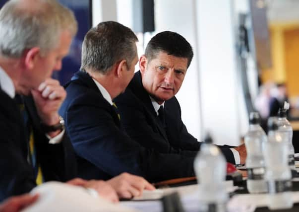
<svg viewBox="0 0 299 212"><path fill-rule="evenodd" d="M201 145L194 161L199 183L200 211L226 212L229 196L225 188L226 159L209 135Z"/></svg>

